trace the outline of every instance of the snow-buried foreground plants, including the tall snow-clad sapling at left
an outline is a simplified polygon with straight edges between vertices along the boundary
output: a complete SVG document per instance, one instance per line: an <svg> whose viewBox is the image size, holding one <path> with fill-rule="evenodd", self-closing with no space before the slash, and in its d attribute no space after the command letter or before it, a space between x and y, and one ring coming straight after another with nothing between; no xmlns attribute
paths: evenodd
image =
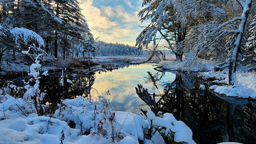
<svg viewBox="0 0 256 144"><path fill-rule="evenodd" d="M116 111L107 99L109 91L106 98L99 95L97 101L81 96L63 100L54 114L49 114L49 105L42 103L46 90L39 89L41 64L38 58L42 55L38 54L30 66L28 75L31 79L24 81L24 87L17 87L9 81L7 87L0 90L0 142L81 143L86 140L89 143L144 143L151 141L152 131L158 131L155 134L165 142L195 143L192 131L172 114L159 113L156 117L148 110L146 118L136 113L134 107L129 112ZM42 73L46 74L47 71ZM67 79L67 82L71 81ZM63 84L63 78L60 83ZM19 95L21 89L26 89L23 96ZM71 123L75 124L74 128L69 126Z"/></svg>

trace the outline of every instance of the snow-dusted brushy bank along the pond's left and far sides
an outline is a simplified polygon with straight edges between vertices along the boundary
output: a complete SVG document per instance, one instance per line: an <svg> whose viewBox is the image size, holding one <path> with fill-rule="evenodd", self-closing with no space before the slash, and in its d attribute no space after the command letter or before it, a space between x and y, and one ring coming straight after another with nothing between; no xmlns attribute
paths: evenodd
<svg viewBox="0 0 256 144"><path fill-rule="evenodd" d="M60 73L63 69L68 70L70 74L88 74L88 59L83 57L66 57L62 60L62 56L55 58L51 55L44 56L42 59L42 71L48 71L50 73ZM168 60L171 60L170 57ZM107 71L117 68L123 68L130 64L145 63L148 60L148 56L101 56L91 58L91 70ZM150 63L159 62L156 58L150 60ZM16 53L15 59L12 54L7 54L2 59L0 71L0 78L3 80L11 80L13 78L27 76L30 65L33 60L24 54ZM3 83L2 81L1 83Z"/></svg>

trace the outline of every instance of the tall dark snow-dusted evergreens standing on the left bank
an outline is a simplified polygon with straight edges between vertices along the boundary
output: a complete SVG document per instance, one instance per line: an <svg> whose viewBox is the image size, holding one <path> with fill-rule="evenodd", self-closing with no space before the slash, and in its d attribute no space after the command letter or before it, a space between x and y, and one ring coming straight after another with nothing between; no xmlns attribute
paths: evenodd
<svg viewBox="0 0 256 144"><path fill-rule="evenodd" d="M78 55L94 50L94 39L77 0L2 0L0 66L3 55L25 52ZM27 51L27 52L26 52Z"/></svg>

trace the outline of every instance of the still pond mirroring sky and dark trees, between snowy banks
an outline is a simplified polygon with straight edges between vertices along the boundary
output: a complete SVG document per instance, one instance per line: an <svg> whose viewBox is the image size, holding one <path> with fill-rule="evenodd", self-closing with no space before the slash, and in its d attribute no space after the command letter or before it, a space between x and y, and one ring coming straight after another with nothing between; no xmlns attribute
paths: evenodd
<svg viewBox="0 0 256 144"><path fill-rule="evenodd" d="M96 100L101 95L108 97L118 111L129 111L134 106L144 115L148 109L154 113L172 113L188 125L196 143L255 143L255 101L215 95L208 90L208 84L205 84L206 91L200 91L201 83L196 76L162 73L154 70L154 65L124 64L112 71L69 78L73 84L64 81L64 86L59 83L60 76L45 77L42 84L49 103L60 103L60 99L78 95Z"/></svg>

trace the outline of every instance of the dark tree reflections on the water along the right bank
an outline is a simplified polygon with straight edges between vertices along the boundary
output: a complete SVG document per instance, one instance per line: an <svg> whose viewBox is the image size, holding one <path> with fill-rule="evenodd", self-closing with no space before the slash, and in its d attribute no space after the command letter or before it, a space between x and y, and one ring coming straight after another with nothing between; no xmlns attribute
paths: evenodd
<svg viewBox="0 0 256 144"><path fill-rule="evenodd" d="M145 83L151 83L157 94L148 93L141 84L136 93L157 115L158 111L172 113L193 132L196 143L220 143L234 141L254 143L256 140L255 101L215 95L207 89L199 91L200 83L195 76L173 72L172 83L160 82L164 72L148 72ZM164 90L158 89L159 85ZM140 109L144 115L146 110Z"/></svg>

